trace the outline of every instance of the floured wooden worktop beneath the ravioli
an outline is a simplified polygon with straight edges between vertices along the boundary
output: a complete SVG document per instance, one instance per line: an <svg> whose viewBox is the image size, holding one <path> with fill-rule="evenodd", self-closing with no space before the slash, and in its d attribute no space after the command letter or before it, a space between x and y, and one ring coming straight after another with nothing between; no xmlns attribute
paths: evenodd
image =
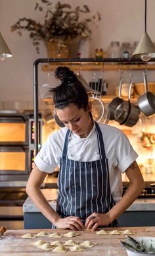
<svg viewBox="0 0 155 256"><path fill-rule="evenodd" d="M155 227L132 227L132 228L115 228L116 230L134 230L136 232L133 237L136 236L152 236L155 237ZM105 228L105 230L114 230L114 228ZM61 234L68 233L70 230L7 230L3 235L3 238L0 240L0 255L51 255L52 250L50 251L43 251L32 245L31 243L37 240L43 240L47 242L51 241L68 241L70 238L62 237L62 238L35 238L35 239L21 239L21 236L26 233L37 234L38 232L45 231L45 232L58 232ZM97 236L96 232L92 232L91 230L80 230L78 231L80 236L76 236L72 238L74 241L79 241L79 243L90 240L95 243L98 243L95 247L87 248L86 251L80 252L70 252L69 250L66 252L67 256L70 255L91 255L91 256L101 256L101 255L127 255L125 249L122 248L120 244L120 240L125 240L125 235L104 235L104 236ZM56 253L55 255L62 255L62 253Z"/></svg>

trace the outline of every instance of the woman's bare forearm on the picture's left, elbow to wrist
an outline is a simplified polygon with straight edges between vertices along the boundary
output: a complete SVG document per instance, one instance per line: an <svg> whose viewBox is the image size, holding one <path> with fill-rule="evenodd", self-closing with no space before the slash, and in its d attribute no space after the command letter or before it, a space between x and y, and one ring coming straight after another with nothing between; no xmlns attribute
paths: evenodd
<svg viewBox="0 0 155 256"><path fill-rule="evenodd" d="M39 210L43 213L43 215L48 218L53 224L55 224L56 220L60 218L60 216L56 213L56 211L49 205L47 199L45 199L41 190L37 187L27 188L26 193L30 196L33 203L39 208Z"/></svg>

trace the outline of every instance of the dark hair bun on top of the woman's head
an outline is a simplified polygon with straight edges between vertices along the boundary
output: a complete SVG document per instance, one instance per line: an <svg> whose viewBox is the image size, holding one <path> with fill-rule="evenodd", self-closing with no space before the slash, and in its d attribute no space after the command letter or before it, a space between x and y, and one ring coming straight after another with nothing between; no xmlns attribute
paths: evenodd
<svg viewBox="0 0 155 256"><path fill-rule="evenodd" d="M60 79L61 83L70 84L71 82L78 82L74 72L68 67L57 67L55 71L56 79Z"/></svg>

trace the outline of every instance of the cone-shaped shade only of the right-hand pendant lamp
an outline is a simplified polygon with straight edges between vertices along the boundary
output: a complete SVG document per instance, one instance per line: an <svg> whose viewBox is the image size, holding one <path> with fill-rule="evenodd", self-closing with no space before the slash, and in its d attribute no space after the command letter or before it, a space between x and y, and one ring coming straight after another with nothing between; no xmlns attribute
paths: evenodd
<svg viewBox="0 0 155 256"><path fill-rule="evenodd" d="M144 32L143 37L137 45L137 48L135 48L132 56L141 58L141 56L144 54L150 54L151 57L155 57L155 46L150 40L147 32Z"/></svg>

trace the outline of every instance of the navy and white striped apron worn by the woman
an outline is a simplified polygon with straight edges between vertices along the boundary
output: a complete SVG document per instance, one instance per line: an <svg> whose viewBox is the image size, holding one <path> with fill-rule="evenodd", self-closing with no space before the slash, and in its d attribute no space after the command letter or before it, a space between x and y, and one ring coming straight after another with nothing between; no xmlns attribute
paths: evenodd
<svg viewBox="0 0 155 256"><path fill-rule="evenodd" d="M108 159L100 127L95 122L100 159L92 162L78 162L67 157L68 129L64 141L60 172L58 174L58 199L56 211L65 218L78 216L83 223L93 212L106 213L115 205L110 191ZM118 226L114 220L107 227ZM52 228L55 228L53 225Z"/></svg>

